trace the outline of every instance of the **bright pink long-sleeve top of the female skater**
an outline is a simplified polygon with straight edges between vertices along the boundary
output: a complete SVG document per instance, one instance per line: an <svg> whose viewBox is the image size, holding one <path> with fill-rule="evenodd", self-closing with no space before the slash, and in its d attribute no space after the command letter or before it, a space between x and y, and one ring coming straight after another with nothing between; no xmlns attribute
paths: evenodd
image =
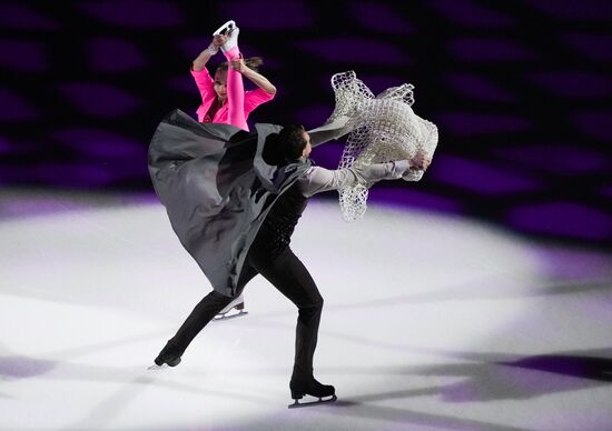
<svg viewBox="0 0 612 431"><path fill-rule="evenodd" d="M196 111L198 116L198 121L220 122L229 124L227 117L227 103L225 103L217 110L217 112L215 112L215 117L210 118L206 116L208 113L208 110L213 106L215 98L217 97L213 87L215 81L213 80L213 78L210 78L210 73L208 73L208 70L206 68L200 71L195 71L194 69L191 69L191 76L194 77L196 84L198 86L198 90L201 94L201 104ZM274 94L270 94L261 90L260 88L256 90L245 91L245 119L248 118L248 114L253 110L255 110L255 108L272 99L274 99Z"/></svg>

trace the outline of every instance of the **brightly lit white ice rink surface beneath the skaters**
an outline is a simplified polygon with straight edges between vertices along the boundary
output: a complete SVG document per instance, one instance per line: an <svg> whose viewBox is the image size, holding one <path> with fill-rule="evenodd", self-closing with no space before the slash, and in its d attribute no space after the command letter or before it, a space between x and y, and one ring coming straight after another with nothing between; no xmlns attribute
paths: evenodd
<svg viewBox="0 0 612 431"><path fill-rule="evenodd" d="M151 194L0 193L2 430L610 430L612 255L313 200L293 249L325 298L338 401L287 409L296 310L263 278L148 370L209 292Z"/></svg>

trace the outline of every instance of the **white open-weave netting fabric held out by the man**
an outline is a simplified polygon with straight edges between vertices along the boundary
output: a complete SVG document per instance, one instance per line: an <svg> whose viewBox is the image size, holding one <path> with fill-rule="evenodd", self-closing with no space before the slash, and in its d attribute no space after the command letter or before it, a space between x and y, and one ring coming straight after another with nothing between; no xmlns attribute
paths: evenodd
<svg viewBox="0 0 612 431"><path fill-rule="evenodd" d="M332 77L336 108L326 123L348 117L351 129L338 168L367 166L391 160L411 160L418 153L433 157L437 146L437 128L416 116L414 86L404 83L378 96L357 79L354 71ZM423 172L406 180L418 181ZM343 219L361 219L366 209L367 191L372 184L346 187L339 192Z"/></svg>

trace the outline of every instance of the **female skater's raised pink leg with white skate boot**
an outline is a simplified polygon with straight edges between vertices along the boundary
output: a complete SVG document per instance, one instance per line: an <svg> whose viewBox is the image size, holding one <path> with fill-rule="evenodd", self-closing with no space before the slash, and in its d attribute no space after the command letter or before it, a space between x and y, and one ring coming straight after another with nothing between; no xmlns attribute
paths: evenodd
<svg viewBox="0 0 612 431"><path fill-rule="evenodd" d="M239 29L236 27L229 36L228 42L223 49L224 56L227 59L227 114L231 126L248 131L247 121L245 118L245 88L243 83L243 74L231 69L231 60L241 57L238 48Z"/></svg>

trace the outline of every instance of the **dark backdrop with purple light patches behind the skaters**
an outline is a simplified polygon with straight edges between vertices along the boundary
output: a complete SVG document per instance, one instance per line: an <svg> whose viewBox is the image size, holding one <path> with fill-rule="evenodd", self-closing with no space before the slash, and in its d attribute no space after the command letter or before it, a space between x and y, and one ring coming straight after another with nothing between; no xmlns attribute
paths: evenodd
<svg viewBox="0 0 612 431"><path fill-rule="evenodd" d="M234 19L278 89L249 124L319 126L336 72L416 87L440 129L432 167L371 200L610 248L611 18L595 0L3 1L1 187L151 191L151 134L175 108L195 116L190 63ZM342 149L313 157L334 168Z"/></svg>

